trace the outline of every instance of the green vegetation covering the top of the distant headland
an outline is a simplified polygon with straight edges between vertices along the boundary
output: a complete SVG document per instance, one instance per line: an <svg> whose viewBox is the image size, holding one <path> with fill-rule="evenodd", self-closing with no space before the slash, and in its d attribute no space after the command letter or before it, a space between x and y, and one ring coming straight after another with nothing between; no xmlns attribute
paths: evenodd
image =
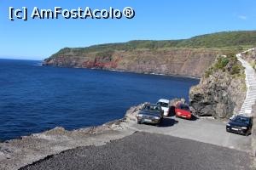
<svg viewBox="0 0 256 170"><path fill-rule="evenodd" d="M256 31L224 31L192 37L183 40L165 41L131 41L121 43L108 43L94 45L87 48L62 48L52 57L76 54L99 53L101 55L113 54L114 51L129 51L134 49L158 49L158 48L228 48L241 51L244 48L256 46Z"/></svg>

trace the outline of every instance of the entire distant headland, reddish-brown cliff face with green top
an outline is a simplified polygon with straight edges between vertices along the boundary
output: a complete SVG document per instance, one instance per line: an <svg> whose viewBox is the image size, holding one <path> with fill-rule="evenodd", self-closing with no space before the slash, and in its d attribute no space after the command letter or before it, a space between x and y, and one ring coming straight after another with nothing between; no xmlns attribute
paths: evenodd
<svg viewBox="0 0 256 170"><path fill-rule="evenodd" d="M202 77L218 54L256 45L256 31L227 31L183 40L131 41L62 48L43 65Z"/></svg>

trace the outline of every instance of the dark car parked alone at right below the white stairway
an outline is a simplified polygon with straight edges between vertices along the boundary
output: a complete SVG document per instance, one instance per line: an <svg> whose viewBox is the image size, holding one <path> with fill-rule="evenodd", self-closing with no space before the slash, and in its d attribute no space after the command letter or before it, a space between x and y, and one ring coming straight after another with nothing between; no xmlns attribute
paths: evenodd
<svg viewBox="0 0 256 170"><path fill-rule="evenodd" d="M226 125L227 132L249 135L252 133L253 118L249 116L238 115L230 118Z"/></svg>

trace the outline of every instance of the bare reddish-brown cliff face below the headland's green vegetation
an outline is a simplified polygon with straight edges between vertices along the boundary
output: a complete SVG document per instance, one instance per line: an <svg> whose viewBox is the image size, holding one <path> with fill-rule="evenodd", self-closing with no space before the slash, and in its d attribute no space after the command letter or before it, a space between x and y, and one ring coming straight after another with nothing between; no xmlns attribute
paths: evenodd
<svg viewBox="0 0 256 170"><path fill-rule="evenodd" d="M81 53L66 49L44 60L44 65L201 77L218 54L211 48L157 48Z"/></svg>

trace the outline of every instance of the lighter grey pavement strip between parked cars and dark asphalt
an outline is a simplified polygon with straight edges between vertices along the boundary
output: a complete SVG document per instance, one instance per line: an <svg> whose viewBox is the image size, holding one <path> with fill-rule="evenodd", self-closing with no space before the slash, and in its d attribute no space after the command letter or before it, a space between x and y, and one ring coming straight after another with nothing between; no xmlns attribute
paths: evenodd
<svg viewBox="0 0 256 170"><path fill-rule="evenodd" d="M167 117L160 124L160 127L150 125L131 124L131 129L148 133L161 133L172 135L183 139L216 144L236 150L251 152L251 135L242 136L226 132L226 122L211 119L197 119L195 121Z"/></svg>

